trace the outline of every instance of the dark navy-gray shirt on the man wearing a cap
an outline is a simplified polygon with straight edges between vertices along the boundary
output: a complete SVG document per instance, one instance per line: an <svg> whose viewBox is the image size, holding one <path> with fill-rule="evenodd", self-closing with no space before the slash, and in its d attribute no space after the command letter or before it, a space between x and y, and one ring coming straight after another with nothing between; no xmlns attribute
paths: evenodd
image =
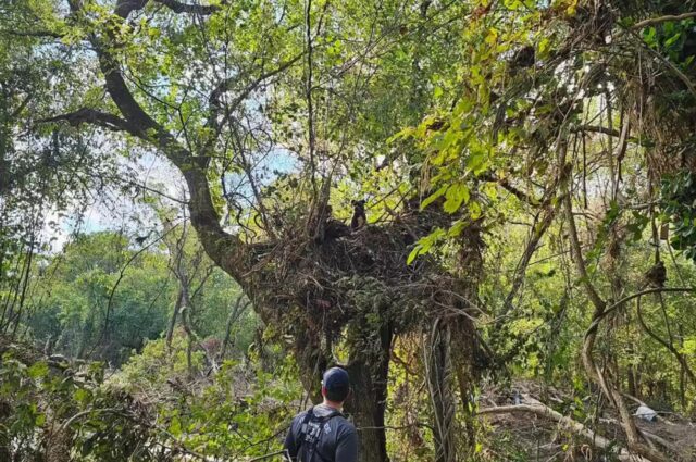
<svg viewBox="0 0 696 462"><path fill-rule="evenodd" d="M356 427L328 405L318 404L311 411L313 416L307 421L304 432L302 426L307 412L296 415L293 420L284 446L290 459L297 462L357 462ZM315 444L312 444L314 440ZM315 447L313 455L312 446Z"/></svg>

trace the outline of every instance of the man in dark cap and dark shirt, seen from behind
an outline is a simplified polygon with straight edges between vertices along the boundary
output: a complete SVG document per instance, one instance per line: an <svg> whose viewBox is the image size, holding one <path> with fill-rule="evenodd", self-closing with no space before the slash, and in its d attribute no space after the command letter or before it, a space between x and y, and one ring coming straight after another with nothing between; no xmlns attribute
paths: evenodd
<svg viewBox="0 0 696 462"><path fill-rule="evenodd" d="M357 462L358 433L340 413L350 394L348 373L332 367L324 373L324 402L295 416L285 438L285 454L293 462Z"/></svg>

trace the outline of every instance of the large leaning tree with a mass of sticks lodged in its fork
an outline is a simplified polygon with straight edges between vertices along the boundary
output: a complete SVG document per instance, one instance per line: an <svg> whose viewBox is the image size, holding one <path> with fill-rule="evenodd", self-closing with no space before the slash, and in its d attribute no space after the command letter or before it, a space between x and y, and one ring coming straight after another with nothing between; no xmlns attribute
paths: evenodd
<svg viewBox="0 0 696 462"><path fill-rule="evenodd" d="M361 458L387 460L394 336L418 326L420 313L471 323L475 289L461 296L460 283L433 262L406 263L412 244L448 218L419 211L418 188L405 186L408 168L390 165L396 159L384 146L427 107L428 76L446 73L457 54L444 43L462 7L171 0L52 7L44 12L51 21L39 17L21 33L58 37L72 52L94 57L94 66L85 66L86 93L42 122L96 125L166 157L186 182L206 252L266 324L294 336L311 394L335 361L333 345L347 346L360 397L351 411ZM376 168L388 173L373 210L388 220L350 232L332 216L332 190L353 188L349 196L358 199L373 168L364 162L377 158L384 161ZM274 175L284 162L294 171ZM333 205L348 212L345 202ZM473 354L472 332L457 327L463 355ZM445 357L434 355L433 367L447 369L449 347L438 348ZM459 378L469 386L470 377ZM451 405L446 395L434 398L436 408ZM440 428L440 440L451 439L451 425L449 419ZM453 450L444 457L452 460Z"/></svg>

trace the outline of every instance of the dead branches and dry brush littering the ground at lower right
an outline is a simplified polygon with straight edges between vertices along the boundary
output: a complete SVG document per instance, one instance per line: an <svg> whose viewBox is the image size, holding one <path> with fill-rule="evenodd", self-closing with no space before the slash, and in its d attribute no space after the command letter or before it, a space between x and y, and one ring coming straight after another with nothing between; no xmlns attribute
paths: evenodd
<svg viewBox="0 0 696 462"><path fill-rule="evenodd" d="M629 399L633 413L647 405ZM616 411L597 396L575 397L539 382L515 380L486 387L477 414L490 437L488 460L644 460L626 450ZM696 460L696 423L673 412L658 411L658 415L655 422L633 417L641 435L667 449L674 462Z"/></svg>

